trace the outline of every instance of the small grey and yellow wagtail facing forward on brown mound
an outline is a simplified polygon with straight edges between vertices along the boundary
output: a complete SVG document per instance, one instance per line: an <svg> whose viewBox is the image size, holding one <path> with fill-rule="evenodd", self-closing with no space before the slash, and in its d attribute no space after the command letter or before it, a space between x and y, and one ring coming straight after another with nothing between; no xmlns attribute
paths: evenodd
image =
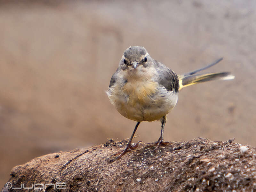
<svg viewBox="0 0 256 192"><path fill-rule="evenodd" d="M137 121L137 124L126 148L113 155L118 155L116 158L120 159L128 150L136 148L142 142L132 145L134 133L142 121L160 120L162 123L160 138L150 146L156 146L156 150L160 145L167 144L163 138L166 115L175 107L178 93L183 87L216 79L234 79L235 76L229 72L196 74L221 60L222 58L204 68L177 75L151 58L144 47L127 48L110 80L107 94L116 110L126 118Z"/></svg>

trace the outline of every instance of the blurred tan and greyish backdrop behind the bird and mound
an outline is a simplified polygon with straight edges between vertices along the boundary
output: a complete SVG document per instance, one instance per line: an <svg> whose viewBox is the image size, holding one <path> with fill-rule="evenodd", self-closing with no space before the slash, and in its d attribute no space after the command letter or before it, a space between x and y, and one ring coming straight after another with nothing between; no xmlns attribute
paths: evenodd
<svg viewBox="0 0 256 192"><path fill-rule="evenodd" d="M233 81L184 88L166 141L196 137L256 146L256 1L0 1L0 186L13 166L48 153L130 138L136 122L108 100L124 50L144 46L177 74ZM140 124L154 142L160 122Z"/></svg>

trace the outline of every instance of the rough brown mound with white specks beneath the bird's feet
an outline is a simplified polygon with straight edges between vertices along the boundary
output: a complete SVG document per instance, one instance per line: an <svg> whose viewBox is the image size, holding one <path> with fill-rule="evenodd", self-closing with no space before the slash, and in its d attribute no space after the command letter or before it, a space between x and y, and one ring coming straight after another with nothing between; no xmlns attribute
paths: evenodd
<svg viewBox="0 0 256 192"><path fill-rule="evenodd" d="M111 154L126 142L109 139L37 157L14 167L2 192L33 185L45 191L256 191L256 150L234 139L170 142L155 153L140 144L116 160Z"/></svg>

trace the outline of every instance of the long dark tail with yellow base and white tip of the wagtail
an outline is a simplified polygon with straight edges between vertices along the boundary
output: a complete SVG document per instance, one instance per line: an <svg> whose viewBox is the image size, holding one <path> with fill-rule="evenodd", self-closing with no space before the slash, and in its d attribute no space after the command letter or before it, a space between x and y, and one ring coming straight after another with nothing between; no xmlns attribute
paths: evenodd
<svg viewBox="0 0 256 192"><path fill-rule="evenodd" d="M202 83L202 82L206 82L206 81L234 79L235 76L231 75L230 72L204 73L204 74L196 74L195 75L195 73L197 73L199 71L202 71L204 69L212 67L213 65L220 62L222 59L223 58L220 58L204 68L197 69L195 71L185 73L183 75L179 75L178 77L179 77L180 90L183 87L187 87L189 85Z"/></svg>

